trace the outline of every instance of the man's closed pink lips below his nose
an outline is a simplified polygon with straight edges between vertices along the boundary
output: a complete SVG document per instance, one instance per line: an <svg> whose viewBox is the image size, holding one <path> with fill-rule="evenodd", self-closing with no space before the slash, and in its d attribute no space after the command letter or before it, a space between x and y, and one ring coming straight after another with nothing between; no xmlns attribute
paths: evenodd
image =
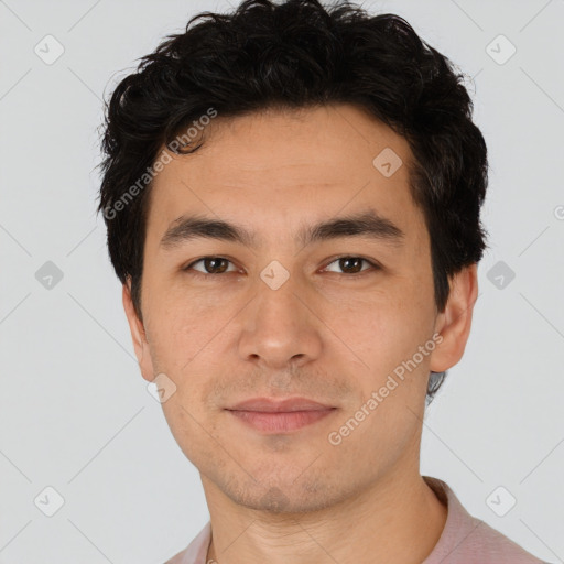
<svg viewBox="0 0 564 564"><path fill-rule="evenodd" d="M336 408L306 398L274 400L254 398L227 411L243 424L262 433L288 433L311 425L335 411Z"/></svg>

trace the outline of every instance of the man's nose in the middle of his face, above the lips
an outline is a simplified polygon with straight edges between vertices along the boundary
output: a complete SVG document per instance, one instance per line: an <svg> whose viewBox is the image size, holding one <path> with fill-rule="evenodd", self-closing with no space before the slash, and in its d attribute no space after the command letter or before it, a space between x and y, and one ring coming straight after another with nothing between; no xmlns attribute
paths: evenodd
<svg viewBox="0 0 564 564"><path fill-rule="evenodd" d="M325 325L312 294L292 276L275 290L261 279L256 286L254 299L241 312L241 358L278 370L317 358Z"/></svg>

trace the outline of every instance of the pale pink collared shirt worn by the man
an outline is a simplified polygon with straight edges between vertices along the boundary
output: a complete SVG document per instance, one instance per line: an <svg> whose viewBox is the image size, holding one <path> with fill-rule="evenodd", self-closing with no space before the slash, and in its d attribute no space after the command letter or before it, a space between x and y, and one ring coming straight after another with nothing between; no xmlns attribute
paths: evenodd
<svg viewBox="0 0 564 564"><path fill-rule="evenodd" d="M543 561L470 516L446 482L427 476L423 478L446 505L448 513L438 542L422 564L543 564ZM210 540L212 523L207 522L189 545L165 564L206 564Z"/></svg>

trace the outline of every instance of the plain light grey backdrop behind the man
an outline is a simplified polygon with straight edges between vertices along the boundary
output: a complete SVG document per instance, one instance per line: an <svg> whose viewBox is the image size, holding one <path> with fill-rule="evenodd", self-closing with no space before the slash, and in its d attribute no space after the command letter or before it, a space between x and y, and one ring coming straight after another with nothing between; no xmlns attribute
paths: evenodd
<svg viewBox="0 0 564 564"><path fill-rule="evenodd" d="M473 332L429 408L422 474L563 562L564 2L364 6L403 15L475 78L491 164ZM95 166L102 96L188 17L227 9L0 1L1 563L162 563L208 519L199 476L139 373L95 215ZM34 52L47 34L65 50L51 65ZM487 47L499 34L517 47L503 64ZM499 40L491 48L509 53ZM63 273L51 288L36 279L47 261ZM65 500L53 517L34 503L54 502L47 486ZM499 486L501 506L517 499L505 517L487 502Z"/></svg>

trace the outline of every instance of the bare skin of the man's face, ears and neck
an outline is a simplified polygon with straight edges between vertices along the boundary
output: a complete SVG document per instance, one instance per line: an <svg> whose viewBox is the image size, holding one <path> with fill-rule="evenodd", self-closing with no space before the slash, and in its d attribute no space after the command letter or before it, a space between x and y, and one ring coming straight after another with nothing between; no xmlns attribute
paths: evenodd
<svg viewBox="0 0 564 564"><path fill-rule="evenodd" d="M143 323L129 283L123 305L143 378L164 372L176 386L162 406L200 473L213 529L208 557L421 563L447 513L419 470L427 378L463 356L476 264L453 276L438 313L429 232L408 187L409 144L355 106L217 117L205 135L197 153L174 156L154 180ZM372 165L384 148L404 163L390 177ZM358 237L294 242L303 224L368 208L404 231L401 246ZM163 234L187 213L243 225L260 246L193 239L164 250ZM361 263L362 275L354 274L336 260L343 256L381 268ZM195 264L203 278L182 270L202 257L230 262L216 271ZM278 290L260 278L272 260L290 274ZM349 436L330 444L328 434L435 333L441 344ZM290 395L337 409L279 434L261 434L225 410Z"/></svg>

